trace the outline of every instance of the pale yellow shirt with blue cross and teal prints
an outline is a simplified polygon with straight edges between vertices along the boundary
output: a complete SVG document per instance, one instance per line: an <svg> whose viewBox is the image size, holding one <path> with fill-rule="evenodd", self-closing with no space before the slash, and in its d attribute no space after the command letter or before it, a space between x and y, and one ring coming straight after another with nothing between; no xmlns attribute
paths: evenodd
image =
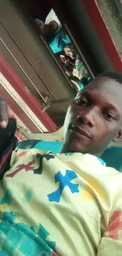
<svg viewBox="0 0 122 256"><path fill-rule="evenodd" d="M122 174L90 154L15 150L0 183L0 255L122 256Z"/></svg>

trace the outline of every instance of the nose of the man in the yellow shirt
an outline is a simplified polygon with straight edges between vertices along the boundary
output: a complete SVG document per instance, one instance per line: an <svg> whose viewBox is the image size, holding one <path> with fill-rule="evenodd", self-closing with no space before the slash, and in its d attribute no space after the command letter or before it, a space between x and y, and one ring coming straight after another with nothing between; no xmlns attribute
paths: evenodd
<svg viewBox="0 0 122 256"><path fill-rule="evenodd" d="M77 116L77 121L79 121L81 124L87 124L90 127L94 127L95 116L94 109L84 109Z"/></svg>

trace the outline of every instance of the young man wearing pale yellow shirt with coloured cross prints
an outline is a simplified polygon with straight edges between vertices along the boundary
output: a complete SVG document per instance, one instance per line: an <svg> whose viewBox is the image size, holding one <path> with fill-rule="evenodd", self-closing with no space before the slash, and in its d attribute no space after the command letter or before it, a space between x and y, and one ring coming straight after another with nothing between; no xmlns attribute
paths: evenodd
<svg viewBox="0 0 122 256"><path fill-rule="evenodd" d="M68 108L61 154L13 151L0 183L1 254L122 255L122 174L95 157L122 137L121 95L122 75L96 77Z"/></svg>

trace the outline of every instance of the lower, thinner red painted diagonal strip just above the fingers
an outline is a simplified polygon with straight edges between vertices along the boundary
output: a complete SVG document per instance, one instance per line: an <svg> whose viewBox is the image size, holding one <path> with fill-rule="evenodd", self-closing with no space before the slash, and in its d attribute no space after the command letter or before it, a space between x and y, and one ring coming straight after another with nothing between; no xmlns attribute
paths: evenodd
<svg viewBox="0 0 122 256"><path fill-rule="evenodd" d="M25 124L25 126L30 130L32 133L38 133L39 128L31 121L31 119L27 116L26 113L20 108L20 106L13 100L13 98L9 95L4 87L0 84L1 87L1 96L2 98L6 98L6 102L8 102L9 107L13 110L13 113L20 118L20 120Z"/></svg>

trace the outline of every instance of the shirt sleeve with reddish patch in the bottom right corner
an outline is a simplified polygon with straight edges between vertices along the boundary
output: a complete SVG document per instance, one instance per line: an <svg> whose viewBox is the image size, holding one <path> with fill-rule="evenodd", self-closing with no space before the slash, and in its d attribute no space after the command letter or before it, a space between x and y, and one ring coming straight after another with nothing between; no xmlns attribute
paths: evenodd
<svg viewBox="0 0 122 256"><path fill-rule="evenodd" d="M121 200L122 203L122 200ZM122 211L113 211L109 219L109 227L102 236L97 256L122 255Z"/></svg>

